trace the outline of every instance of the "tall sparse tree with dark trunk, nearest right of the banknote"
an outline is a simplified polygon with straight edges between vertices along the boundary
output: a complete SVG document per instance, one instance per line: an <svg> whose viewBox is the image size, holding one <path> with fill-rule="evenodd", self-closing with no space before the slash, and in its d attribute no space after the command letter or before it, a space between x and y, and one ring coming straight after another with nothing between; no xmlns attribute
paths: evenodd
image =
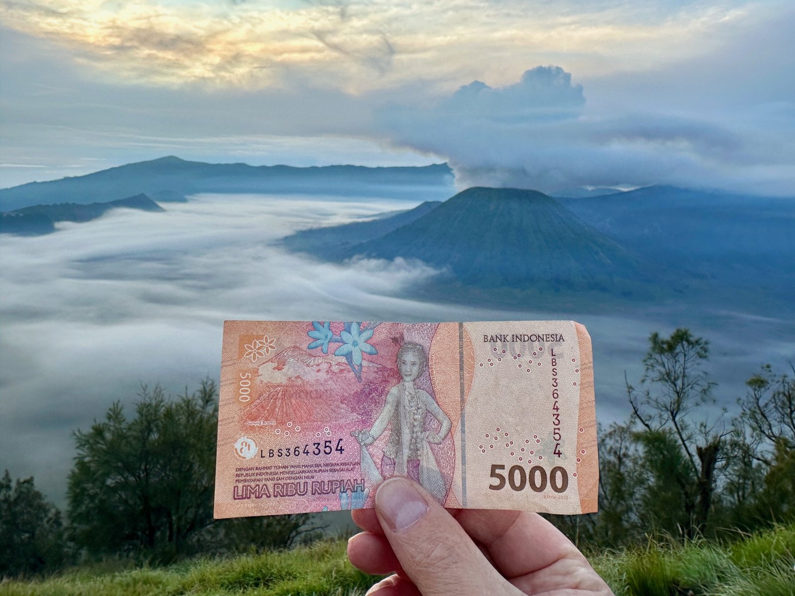
<svg viewBox="0 0 795 596"><path fill-rule="evenodd" d="M669 338L653 332L649 343L641 386L636 389L627 381L626 391L634 418L646 429L641 437L646 464L665 474L661 482L673 482L686 517L685 532L692 537L707 524L729 433L694 416L696 408L712 402L715 383L704 371L708 341L677 328Z"/></svg>

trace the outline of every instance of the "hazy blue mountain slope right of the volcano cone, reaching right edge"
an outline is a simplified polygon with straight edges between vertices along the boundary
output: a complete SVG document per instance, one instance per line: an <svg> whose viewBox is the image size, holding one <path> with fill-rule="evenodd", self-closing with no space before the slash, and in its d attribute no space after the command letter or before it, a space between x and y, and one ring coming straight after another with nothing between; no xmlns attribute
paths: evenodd
<svg viewBox="0 0 795 596"><path fill-rule="evenodd" d="M795 197L670 186L559 199L622 246L665 266L727 284L795 287Z"/></svg>

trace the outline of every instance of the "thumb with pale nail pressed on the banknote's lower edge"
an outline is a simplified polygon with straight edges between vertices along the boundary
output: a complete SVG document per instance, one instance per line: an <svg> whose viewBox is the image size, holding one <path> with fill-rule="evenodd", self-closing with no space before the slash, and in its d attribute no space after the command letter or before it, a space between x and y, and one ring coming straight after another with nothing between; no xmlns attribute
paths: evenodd
<svg viewBox="0 0 795 596"><path fill-rule="evenodd" d="M405 575L424 596L521 594L416 482L401 477L382 482L375 511Z"/></svg>

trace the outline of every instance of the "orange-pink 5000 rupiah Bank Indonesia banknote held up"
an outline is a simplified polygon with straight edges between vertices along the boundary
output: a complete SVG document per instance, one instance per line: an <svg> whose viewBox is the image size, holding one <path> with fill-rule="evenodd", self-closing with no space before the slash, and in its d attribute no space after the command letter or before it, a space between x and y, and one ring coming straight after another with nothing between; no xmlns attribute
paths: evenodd
<svg viewBox="0 0 795 596"><path fill-rule="evenodd" d="M573 321L227 321L215 517L372 507L596 510L593 359Z"/></svg>

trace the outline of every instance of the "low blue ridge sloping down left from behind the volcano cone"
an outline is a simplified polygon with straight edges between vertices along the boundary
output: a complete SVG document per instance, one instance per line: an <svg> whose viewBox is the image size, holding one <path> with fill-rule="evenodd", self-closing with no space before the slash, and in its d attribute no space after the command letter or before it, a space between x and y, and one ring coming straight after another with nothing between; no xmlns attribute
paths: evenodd
<svg viewBox="0 0 795 596"><path fill-rule="evenodd" d="M282 243L295 252L320 254L329 259L344 257L352 246L389 234L400 226L421 218L441 204L440 201L425 201L408 211L386 214L386 217L365 222L301 230L284 238Z"/></svg>

